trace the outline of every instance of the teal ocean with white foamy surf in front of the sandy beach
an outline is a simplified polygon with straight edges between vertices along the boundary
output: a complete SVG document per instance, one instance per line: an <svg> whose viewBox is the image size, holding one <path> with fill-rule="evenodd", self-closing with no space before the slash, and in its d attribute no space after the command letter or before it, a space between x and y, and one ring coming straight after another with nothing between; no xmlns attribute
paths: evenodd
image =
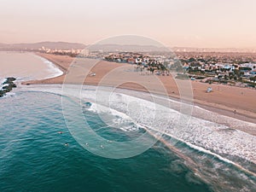
<svg viewBox="0 0 256 192"><path fill-rule="evenodd" d="M94 102L95 89L85 86L78 100L73 90L61 96L60 85L29 85L0 98L1 192L256 191L255 137L196 118L188 128L176 130L173 122L179 113L171 110L169 122L163 115L166 109L155 105L156 112L163 111L151 122L150 102L138 98L142 93L136 91L128 96L131 90L114 93L108 111L101 101ZM144 104L146 111L125 111L126 102L134 103L132 108ZM77 113L84 119L76 119ZM160 126L168 129L144 148L152 139L143 137L146 130L157 133L163 131ZM83 131L96 132L102 140ZM113 147L142 137L132 148ZM133 155L137 149L141 153Z"/></svg>

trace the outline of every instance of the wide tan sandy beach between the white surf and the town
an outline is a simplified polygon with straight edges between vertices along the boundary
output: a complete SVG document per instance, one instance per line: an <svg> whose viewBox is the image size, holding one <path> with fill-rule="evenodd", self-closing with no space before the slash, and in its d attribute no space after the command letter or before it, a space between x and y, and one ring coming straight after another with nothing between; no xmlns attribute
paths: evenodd
<svg viewBox="0 0 256 192"><path fill-rule="evenodd" d="M78 59L67 55L38 55L55 63L63 74L51 79L26 81L23 84L62 84L67 74L68 67L70 67L72 63L73 66L79 66ZM96 76L87 75L84 77L86 73L96 73ZM191 88L189 89L193 90L193 102L196 106L232 118L256 123L256 90L253 89L223 84L205 84L190 80L189 83L186 83L186 80L173 79L172 76L155 76L148 75L147 73L134 72L134 67L130 64L108 61L99 61L97 63L92 61L88 63L88 65L83 65L83 70L77 70L77 73L73 75L69 74L68 77L72 77L71 79L66 79L66 83L70 84L78 84L83 81L84 84L110 85L131 90L165 94L163 88L160 86L161 82L167 94L177 100L181 95L180 87L182 87L183 84L188 85L191 83ZM157 80L155 80L156 78ZM160 82L158 80L160 80ZM213 90L211 93L206 92L209 86L211 86ZM186 98L186 96L183 96L183 98ZM205 119L207 119L207 117L205 117ZM255 131L250 131L249 133L256 135Z"/></svg>

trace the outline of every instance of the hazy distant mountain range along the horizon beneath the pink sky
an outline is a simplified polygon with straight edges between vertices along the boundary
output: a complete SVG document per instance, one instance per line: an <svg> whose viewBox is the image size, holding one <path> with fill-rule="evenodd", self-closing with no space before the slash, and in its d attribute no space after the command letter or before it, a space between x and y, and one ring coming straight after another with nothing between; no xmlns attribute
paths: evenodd
<svg viewBox="0 0 256 192"><path fill-rule="evenodd" d="M90 49L102 51L168 51L166 47L157 47L154 45L137 45L137 44L93 44L86 46L79 43L68 42L39 42L34 44L1 44L0 50L35 50L35 49ZM216 49L216 48L188 48L188 47L172 47L174 52L253 52L256 49Z"/></svg>

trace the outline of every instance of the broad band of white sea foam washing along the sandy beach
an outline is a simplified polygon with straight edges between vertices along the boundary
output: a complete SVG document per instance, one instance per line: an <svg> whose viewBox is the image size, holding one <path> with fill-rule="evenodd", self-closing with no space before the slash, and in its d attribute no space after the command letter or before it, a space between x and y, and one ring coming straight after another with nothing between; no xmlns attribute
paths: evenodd
<svg viewBox="0 0 256 192"><path fill-rule="evenodd" d="M96 87L85 86L81 93L76 93L76 91L74 91L76 89L78 89L78 87L75 87L75 85L70 85L69 87L67 86L65 88L64 93L67 96L83 97L90 102L96 101L96 90L94 90ZM47 91L57 94L62 93L60 87L58 88L54 85L24 87L23 90ZM140 96L140 93L138 93L137 96ZM180 141L189 143L189 145L193 148L197 148L201 151L206 150L205 152L207 153L216 154L220 160L231 162L232 160L228 159L229 157L223 156L224 154L230 154L256 163L256 137L247 134L246 132L233 129L234 127L232 126L220 125L209 120L195 117L186 117L187 115L183 115L177 110L165 108L135 96L113 93L112 97L108 97L108 100L108 104L105 107L108 108L108 106L110 106L114 110L113 115L118 115L122 118L129 117L139 125L145 125L153 130L163 131L167 135L171 135ZM97 104L104 106L104 101L98 102L99 103ZM127 106L129 106L129 103L131 102L140 103L142 108L133 108L133 111L129 110ZM95 105L92 105L91 110L96 110L95 107ZM202 110L201 113L212 113L206 109L197 109ZM136 110L140 111L138 112ZM131 112L136 114L142 113L143 115L139 116L140 118L138 119L137 115L132 115ZM160 113L160 115L157 115L157 113ZM243 126L256 127L256 125L253 123L248 123L246 121L241 121L234 118L231 119L220 114L218 114L218 119L232 121L233 123L230 125L240 124ZM182 122L182 120L188 120L189 122Z"/></svg>

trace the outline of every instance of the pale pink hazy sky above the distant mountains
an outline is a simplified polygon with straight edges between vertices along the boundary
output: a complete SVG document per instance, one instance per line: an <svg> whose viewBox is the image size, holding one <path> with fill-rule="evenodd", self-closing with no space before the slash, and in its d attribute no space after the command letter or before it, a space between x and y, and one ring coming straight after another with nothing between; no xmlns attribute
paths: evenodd
<svg viewBox="0 0 256 192"><path fill-rule="evenodd" d="M256 48L255 8L255 0L1 0L0 43L134 34L170 47Z"/></svg>

